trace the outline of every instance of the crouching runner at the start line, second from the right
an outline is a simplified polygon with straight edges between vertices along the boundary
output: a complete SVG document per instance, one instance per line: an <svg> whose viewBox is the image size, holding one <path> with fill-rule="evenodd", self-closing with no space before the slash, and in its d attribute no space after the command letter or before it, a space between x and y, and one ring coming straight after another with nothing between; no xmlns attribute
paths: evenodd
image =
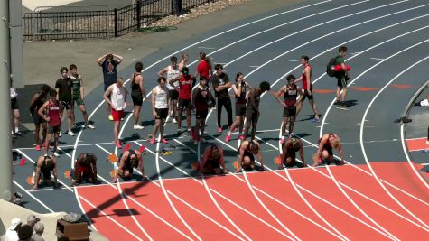
<svg viewBox="0 0 429 241"><path fill-rule="evenodd" d="M296 152L300 152L300 158L303 162L298 164L296 162ZM303 142L298 138L289 138L282 145L282 154L280 155L280 163L278 163L278 168L283 169L285 167L293 167L294 165L299 167L307 166L307 163L303 159Z"/></svg>

